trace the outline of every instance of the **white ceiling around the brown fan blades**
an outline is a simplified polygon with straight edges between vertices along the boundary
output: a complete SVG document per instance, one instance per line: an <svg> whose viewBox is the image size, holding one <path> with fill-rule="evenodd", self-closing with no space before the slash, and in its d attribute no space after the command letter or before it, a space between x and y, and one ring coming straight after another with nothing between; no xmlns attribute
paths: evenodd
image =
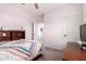
<svg viewBox="0 0 86 64"><path fill-rule="evenodd" d="M64 4L65 3L38 3L38 9L35 8L35 3L17 3L16 5L27 12L41 15L47 11L50 11Z"/></svg>

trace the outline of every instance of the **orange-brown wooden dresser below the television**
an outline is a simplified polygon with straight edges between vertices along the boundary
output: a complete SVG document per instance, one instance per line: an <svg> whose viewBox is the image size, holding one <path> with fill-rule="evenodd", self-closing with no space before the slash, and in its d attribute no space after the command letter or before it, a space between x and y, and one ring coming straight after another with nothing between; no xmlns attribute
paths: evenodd
<svg viewBox="0 0 86 64"><path fill-rule="evenodd" d="M63 54L64 61L86 61L86 51L76 42L69 42Z"/></svg>

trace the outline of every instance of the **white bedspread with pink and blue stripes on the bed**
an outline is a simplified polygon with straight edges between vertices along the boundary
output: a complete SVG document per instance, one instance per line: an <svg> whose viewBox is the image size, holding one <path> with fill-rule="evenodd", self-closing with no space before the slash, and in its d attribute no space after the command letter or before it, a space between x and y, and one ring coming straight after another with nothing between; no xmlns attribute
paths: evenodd
<svg viewBox="0 0 86 64"><path fill-rule="evenodd" d="M0 46L1 61L29 61L40 49L38 42L7 43Z"/></svg>

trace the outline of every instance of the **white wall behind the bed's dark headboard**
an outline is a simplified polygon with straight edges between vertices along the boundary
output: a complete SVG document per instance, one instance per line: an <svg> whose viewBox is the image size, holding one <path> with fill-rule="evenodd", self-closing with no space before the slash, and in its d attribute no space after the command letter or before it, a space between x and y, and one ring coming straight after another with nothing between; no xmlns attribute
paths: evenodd
<svg viewBox="0 0 86 64"><path fill-rule="evenodd" d="M32 38L30 23L36 21L36 15L14 4L0 4L0 27L5 26L5 28L10 29L20 29L20 27L23 27L26 31L26 39Z"/></svg>

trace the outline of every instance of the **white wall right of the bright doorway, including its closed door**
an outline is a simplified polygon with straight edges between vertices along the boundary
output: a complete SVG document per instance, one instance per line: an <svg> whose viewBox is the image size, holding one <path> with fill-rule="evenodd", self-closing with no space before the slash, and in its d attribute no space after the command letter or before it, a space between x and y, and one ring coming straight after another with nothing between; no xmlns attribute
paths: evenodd
<svg viewBox="0 0 86 64"><path fill-rule="evenodd" d="M63 50L65 41L79 40L81 4L65 4L44 14L45 47ZM64 38L63 35L66 35Z"/></svg>

